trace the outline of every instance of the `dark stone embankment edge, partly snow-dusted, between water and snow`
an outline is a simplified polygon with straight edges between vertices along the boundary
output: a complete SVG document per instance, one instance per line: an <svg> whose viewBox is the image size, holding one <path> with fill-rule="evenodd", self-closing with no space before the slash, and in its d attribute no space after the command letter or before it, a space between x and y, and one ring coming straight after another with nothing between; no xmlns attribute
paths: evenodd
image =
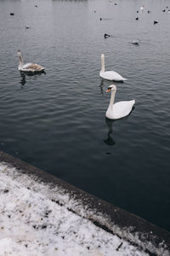
<svg viewBox="0 0 170 256"><path fill-rule="evenodd" d="M39 183L47 183L51 189L60 188L76 201L68 210L82 218L87 218L100 228L129 241L139 249L150 255L170 255L170 233L154 224L127 212L120 207L103 201L94 195L78 189L65 181L44 172L25 161L19 160L10 154L0 151L0 161L8 166L14 166L20 173L34 177ZM63 202L56 201L61 206ZM83 214L80 209L84 209Z"/></svg>

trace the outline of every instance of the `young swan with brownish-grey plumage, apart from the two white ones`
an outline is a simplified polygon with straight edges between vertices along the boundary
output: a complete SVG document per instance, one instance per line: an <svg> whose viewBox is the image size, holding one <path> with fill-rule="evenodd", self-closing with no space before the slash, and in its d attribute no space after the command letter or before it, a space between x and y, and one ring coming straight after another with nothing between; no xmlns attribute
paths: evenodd
<svg viewBox="0 0 170 256"><path fill-rule="evenodd" d="M26 72L41 72L45 69L45 67L42 67L38 64L34 64L34 63L26 63L24 64L20 50L18 50L18 55L20 58L20 65L18 67L18 69L20 71L26 71Z"/></svg>

